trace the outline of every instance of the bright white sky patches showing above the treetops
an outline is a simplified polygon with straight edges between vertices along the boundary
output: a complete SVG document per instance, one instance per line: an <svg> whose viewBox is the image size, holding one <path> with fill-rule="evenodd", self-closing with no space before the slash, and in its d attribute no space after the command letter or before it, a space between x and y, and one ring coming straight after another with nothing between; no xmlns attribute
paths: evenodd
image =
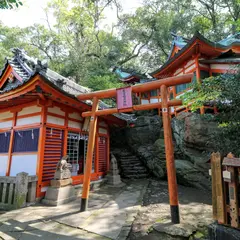
<svg viewBox="0 0 240 240"><path fill-rule="evenodd" d="M8 27L27 27L34 23L47 24L44 8L50 0L23 0L23 6L16 10L0 10L0 21ZM123 11L133 12L141 6L142 0L121 0ZM115 13L108 11L107 19L113 21ZM49 16L51 22L53 16Z"/></svg>

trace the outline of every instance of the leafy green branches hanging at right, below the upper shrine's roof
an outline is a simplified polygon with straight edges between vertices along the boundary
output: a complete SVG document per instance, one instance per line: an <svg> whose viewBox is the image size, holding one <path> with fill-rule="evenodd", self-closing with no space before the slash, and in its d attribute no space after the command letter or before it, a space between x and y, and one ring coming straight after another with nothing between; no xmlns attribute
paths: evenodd
<svg viewBox="0 0 240 240"><path fill-rule="evenodd" d="M215 105L219 113L214 119L219 131L213 136L218 142L219 151L240 155L240 72L224 74L204 79L202 84L193 86L191 92L184 94L184 104L191 104L196 111L203 105Z"/></svg>

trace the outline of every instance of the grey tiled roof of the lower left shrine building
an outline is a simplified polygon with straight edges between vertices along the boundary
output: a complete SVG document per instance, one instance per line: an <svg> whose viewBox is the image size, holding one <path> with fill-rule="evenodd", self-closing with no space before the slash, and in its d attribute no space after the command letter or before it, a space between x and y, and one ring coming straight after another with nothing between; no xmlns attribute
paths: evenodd
<svg viewBox="0 0 240 240"><path fill-rule="evenodd" d="M50 81L52 85L56 87L58 90L61 90L67 93L68 95L71 95L73 98L76 98L76 95L84 94L91 91L89 88L83 87L75 83L71 79L63 77L57 72L49 69L46 63L41 62L40 60L34 59L32 57L29 57L26 54L26 52L22 49L14 48L13 53L14 53L13 58L7 60L4 68L0 71L0 77L6 71L8 64L10 64L14 71L17 73L17 75L19 75L19 77L22 79L22 81L14 81L13 83L6 82L6 84L1 89L0 94L9 92L23 85L24 83L29 81L31 77L36 73L40 74L45 79ZM91 101L85 103L90 105ZM101 109L110 108L110 106L106 105L103 102L100 102L99 106ZM132 115L127 116L127 114L121 113L114 114L114 116L125 121L130 121L131 119L133 119L133 117L131 117Z"/></svg>

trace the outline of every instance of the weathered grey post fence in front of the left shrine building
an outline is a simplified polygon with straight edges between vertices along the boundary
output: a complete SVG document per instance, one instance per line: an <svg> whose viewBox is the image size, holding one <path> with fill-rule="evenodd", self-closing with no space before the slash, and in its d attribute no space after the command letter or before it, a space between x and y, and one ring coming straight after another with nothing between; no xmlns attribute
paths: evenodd
<svg viewBox="0 0 240 240"><path fill-rule="evenodd" d="M0 177L0 209L25 207L36 200L37 176L18 173L16 177Z"/></svg>

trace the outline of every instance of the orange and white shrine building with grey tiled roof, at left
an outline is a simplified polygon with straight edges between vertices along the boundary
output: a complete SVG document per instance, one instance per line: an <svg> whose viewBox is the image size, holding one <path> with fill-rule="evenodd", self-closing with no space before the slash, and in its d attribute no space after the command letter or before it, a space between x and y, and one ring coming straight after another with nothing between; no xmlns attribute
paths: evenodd
<svg viewBox="0 0 240 240"><path fill-rule="evenodd" d="M20 49L0 71L0 176L37 175L37 197L43 197L56 165L69 155L73 184L83 182L91 102L76 95L89 92ZM100 102L100 108L107 106ZM121 114L98 120L91 180L109 169L109 126L124 126Z"/></svg>

